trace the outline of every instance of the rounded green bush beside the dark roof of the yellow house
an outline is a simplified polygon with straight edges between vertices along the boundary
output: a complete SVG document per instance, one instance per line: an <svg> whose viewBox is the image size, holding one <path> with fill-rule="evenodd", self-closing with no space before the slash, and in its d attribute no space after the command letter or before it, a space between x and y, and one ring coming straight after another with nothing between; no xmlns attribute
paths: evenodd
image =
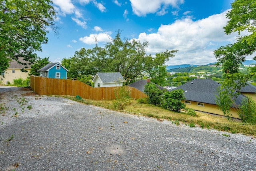
<svg viewBox="0 0 256 171"><path fill-rule="evenodd" d="M180 109L184 109L186 105L181 102L185 99L184 91L182 89L166 91L162 99L162 108L180 112Z"/></svg>

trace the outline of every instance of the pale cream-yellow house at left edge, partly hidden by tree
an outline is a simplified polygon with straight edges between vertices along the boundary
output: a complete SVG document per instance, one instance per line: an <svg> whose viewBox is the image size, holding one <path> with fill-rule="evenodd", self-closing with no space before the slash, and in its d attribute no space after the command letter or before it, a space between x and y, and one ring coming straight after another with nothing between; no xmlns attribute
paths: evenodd
<svg viewBox="0 0 256 171"><path fill-rule="evenodd" d="M22 61L24 62L24 61ZM19 64L17 61L11 61L10 62L10 66L8 69L6 69L6 71L4 73L2 73L2 75L4 75L4 78L1 77L1 83L3 85L7 85L8 82L10 82L11 84L13 84L13 80L14 79L26 79L29 75L28 73L30 72L30 65L27 65L28 68L24 69L28 72L21 72L20 69L24 68L24 65Z"/></svg>

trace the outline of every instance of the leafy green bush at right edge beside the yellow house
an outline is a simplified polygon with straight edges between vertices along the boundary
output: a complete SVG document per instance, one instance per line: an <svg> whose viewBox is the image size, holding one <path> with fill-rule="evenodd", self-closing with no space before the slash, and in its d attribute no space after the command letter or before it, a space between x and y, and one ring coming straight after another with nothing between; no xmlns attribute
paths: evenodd
<svg viewBox="0 0 256 171"><path fill-rule="evenodd" d="M242 122L256 124L256 103L251 97L243 98L238 116L240 116Z"/></svg>

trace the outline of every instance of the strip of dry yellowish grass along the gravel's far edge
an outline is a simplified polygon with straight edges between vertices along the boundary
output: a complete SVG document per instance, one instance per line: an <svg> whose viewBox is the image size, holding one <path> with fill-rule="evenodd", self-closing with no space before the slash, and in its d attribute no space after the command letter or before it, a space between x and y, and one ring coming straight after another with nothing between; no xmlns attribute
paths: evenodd
<svg viewBox="0 0 256 171"><path fill-rule="evenodd" d="M104 107L110 110L115 110L113 101L114 100L79 100L74 96L64 96L70 100L82 102L84 104L92 104L95 106ZM245 135L256 136L256 124L245 124L240 121L229 121L227 118L222 116L214 116L202 112L196 112L196 116L190 116L185 113L172 112L165 110L152 104L140 104L136 100L131 100L130 104L126 106L124 112L135 114L138 116L147 116L156 118L158 120L166 119L172 122L179 121L189 125L190 123L196 124L201 128L214 128L216 130L235 133L242 133Z"/></svg>

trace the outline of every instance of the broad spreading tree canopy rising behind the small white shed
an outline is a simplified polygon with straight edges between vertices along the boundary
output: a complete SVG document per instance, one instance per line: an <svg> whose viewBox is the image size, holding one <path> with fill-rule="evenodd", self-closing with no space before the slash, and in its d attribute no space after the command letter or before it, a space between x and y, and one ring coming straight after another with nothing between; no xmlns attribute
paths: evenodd
<svg viewBox="0 0 256 171"><path fill-rule="evenodd" d="M174 57L178 50L166 50L156 53L155 57L146 54L148 42L120 39L120 31L111 42L106 43L105 47L92 49L82 48L76 51L71 58L69 72L72 77L79 75L94 75L96 72L120 72L125 79L133 81L143 71L153 69L158 65L164 64Z"/></svg>

